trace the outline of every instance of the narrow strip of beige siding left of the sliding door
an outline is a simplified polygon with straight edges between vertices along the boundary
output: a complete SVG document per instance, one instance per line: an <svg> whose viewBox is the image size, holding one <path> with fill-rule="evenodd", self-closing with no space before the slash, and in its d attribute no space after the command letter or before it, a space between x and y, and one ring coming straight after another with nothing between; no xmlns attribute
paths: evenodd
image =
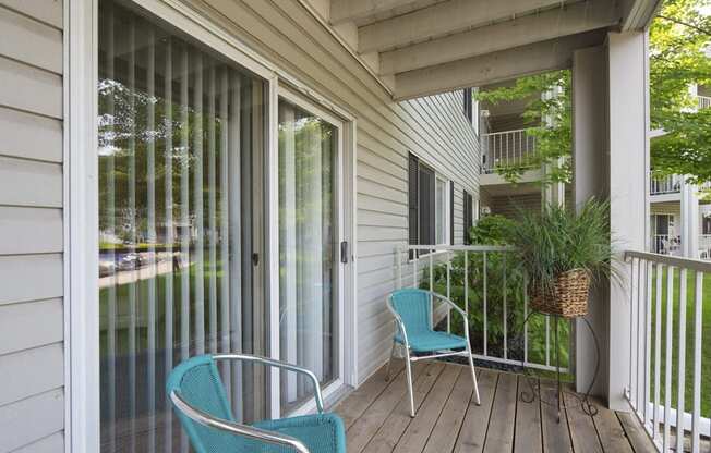
<svg viewBox="0 0 711 453"><path fill-rule="evenodd" d="M62 2L0 0L0 452L61 452Z"/></svg>

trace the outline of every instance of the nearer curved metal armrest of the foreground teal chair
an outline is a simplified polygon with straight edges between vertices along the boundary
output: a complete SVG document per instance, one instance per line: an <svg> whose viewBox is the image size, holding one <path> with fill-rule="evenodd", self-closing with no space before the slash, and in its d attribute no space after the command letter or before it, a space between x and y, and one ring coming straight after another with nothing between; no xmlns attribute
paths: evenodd
<svg viewBox="0 0 711 453"><path fill-rule="evenodd" d="M214 417L190 405L174 391L170 392L170 400L182 414L203 426L277 445L290 446L299 453L310 453L306 445L297 438Z"/></svg>

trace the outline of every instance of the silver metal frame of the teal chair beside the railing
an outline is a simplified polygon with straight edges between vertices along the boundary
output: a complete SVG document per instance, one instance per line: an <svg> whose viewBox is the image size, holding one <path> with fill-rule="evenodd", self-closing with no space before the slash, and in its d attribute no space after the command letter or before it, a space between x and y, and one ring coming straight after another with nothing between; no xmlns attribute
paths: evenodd
<svg viewBox="0 0 711 453"><path fill-rule="evenodd" d="M443 296L442 294L437 294L432 291L425 291L425 290L418 290L421 291L422 293L425 293L430 296L430 304L434 305L434 298L437 298L445 304L447 304L450 308L453 308L455 311L459 313L461 315L461 318L465 321L465 338L467 340L467 348L465 351L459 351L455 352L451 350L448 350L446 352L439 353L439 354L430 354L430 355L424 355L424 356L414 356L412 355L412 351L410 350L410 342L408 341L408 333L405 328L405 322L402 321L402 318L400 315L397 313L395 307L393 307L393 294L390 293L387 298L386 298L386 305L388 310L393 314L395 317L395 326L398 329L398 331L402 334L402 342L405 345L405 368L407 371L407 378L408 378L408 393L410 396L410 417L414 417L414 392L412 389L412 362L418 362L418 360L424 360L429 358L438 358L438 357L450 357L450 356L466 356L469 360L469 367L471 369L471 379L474 384L474 403L479 406L481 404L481 400L479 397L479 385L477 384L477 371L474 370L474 360L471 356L471 343L469 341L469 320L467 319L467 314L465 310L459 308L457 304L451 302L449 298ZM433 310L431 310L430 315L432 316ZM432 329L432 319L430 319L430 329ZM386 374L385 374L385 379L389 380L390 379L390 369L391 369L391 364L393 364L393 357L395 356L395 350L397 347L397 342L395 341L395 338L393 339L393 348L390 350L390 359L387 363L387 368L386 368ZM436 351L432 351L436 352Z"/></svg>

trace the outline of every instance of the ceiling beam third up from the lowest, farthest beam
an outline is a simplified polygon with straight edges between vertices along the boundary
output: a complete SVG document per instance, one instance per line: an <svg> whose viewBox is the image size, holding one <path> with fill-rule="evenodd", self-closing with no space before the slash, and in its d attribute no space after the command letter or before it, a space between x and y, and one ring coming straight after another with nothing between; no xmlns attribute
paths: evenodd
<svg viewBox="0 0 711 453"><path fill-rule="evenodd" d="M361 27L358 50L390 50L556 4L561 0L449 0Z"/></svg>

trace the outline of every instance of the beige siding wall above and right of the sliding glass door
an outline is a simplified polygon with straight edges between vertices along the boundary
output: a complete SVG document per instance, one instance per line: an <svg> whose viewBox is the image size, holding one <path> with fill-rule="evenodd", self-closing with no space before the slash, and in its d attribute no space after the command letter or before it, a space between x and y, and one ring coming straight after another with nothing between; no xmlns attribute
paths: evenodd
<svg viewBox="0 0 711 453"><path fill-rule="evenodd" d="M478 196L479 145L461 93L394 103L373 77L297 0L209 0L221 25L358 119L359 377L389 353L385 295L395 287L394 248L407 243L407 156L412 151L456 183L456 237L462 189Z"/></svg>

